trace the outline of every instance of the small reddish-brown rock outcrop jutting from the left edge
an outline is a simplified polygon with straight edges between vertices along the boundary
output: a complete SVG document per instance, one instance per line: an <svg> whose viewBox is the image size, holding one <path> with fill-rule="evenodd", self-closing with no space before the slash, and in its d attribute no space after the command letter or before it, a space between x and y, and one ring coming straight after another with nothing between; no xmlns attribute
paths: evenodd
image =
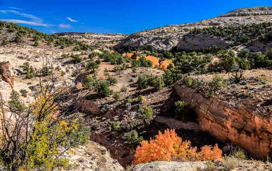
<svg viewBox="0 0 272 171"><path fill-rule="evenodd" d="M12 90L14 90L14 73L8 61L0 62L0 74L2 80L9 83Z"/></svg>

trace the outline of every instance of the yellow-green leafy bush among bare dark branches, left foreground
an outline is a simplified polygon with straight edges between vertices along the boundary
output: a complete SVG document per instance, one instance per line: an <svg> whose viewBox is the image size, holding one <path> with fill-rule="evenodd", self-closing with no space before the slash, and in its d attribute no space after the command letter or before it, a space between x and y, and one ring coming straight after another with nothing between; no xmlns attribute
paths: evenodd
<svg viewBox="0 0 272 171"><path fill-rule="evenodd" d="M78 119L67 122L64 117L58 118L58 107L53 96L47 91L37 95L36 100L30 104L36 117L33 132L26 148L26 167L36 168L37 165L51 163L54 167L69 167L68 158L58 158L59 145L64 146L68 141L68 134L78 129Z"/></svg>

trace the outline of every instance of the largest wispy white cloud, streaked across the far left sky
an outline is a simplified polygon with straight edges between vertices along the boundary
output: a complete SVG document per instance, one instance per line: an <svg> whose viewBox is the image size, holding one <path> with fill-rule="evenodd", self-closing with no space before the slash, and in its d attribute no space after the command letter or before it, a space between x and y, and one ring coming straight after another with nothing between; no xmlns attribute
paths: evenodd
<svg viewBox="0 0 272 171"><path fill-rule="evenodd" d="M30 18L31 21L26 21L26 20L20 20L20 19L0 19L2 21L6 21L6 22L13 22L13 23L21 23L21 24L28 24L28 25L32 25L32 26L43 26L43 27L51 27L54 26L53 24L45 24L43 23L43 19L36 17L32 14L26 14L26 13L21 13L19 11L15 11L15 10L0 10L1 13L7 14L7 13L13 13L16 15L20 15L24 18Z"/></svg>

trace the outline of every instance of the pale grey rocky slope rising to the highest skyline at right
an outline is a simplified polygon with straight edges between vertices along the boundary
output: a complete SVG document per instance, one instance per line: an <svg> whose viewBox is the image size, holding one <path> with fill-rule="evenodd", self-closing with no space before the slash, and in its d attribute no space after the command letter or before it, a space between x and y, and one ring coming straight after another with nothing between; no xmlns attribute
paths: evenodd
<svg viewBox="0 0 272 171"><path fill-rule="evenodd" d="M215 18L201 20L195 23L184 23L180 25L167 25L164 27L144 30L133 33L125 40L118 43L115 49L119 51L135 48L151 47L155 49L171 50L174 46L180 44L180 41L191 29L209 28L212 26L228 26L240 24L263 23L272 21L272 7L258 6L253 8L242 8L230 11L229 13L219 15ZM202 36L199 39L203 39ZM210 41L206 41L205 43ZM211 42L224 44L220 40ZM194 44L192 42L191 44ZM179 46L179 49L180 46Z"/></svg>

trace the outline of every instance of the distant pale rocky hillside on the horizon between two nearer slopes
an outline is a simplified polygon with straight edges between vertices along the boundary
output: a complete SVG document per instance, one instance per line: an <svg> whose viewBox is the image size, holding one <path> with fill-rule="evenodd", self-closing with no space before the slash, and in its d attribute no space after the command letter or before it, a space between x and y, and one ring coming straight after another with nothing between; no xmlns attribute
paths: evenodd
<svg viewBox="0 0 272 171"><path fill-rule="evenodd" d="M77 32L65 32L55 33L56 35L69 37L78 41L85 42L86 44L94 48L110 48L118 44L121 40L128 35L119 33L77 33Z"/></svg>

